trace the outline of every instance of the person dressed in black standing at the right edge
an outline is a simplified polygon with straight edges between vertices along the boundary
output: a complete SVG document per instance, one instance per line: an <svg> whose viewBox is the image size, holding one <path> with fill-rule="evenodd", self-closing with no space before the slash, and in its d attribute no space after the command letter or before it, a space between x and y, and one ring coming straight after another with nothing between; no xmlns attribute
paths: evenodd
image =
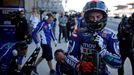
<svg viewBox="0 0 134 75"><path fill-rule="evenodd" d="M118 75L124 75L124 62L128 57L132 65L134 75L134 13L130 17L124 16L118 27L118 40L122 58L122 66L118 69Z"/></svg>

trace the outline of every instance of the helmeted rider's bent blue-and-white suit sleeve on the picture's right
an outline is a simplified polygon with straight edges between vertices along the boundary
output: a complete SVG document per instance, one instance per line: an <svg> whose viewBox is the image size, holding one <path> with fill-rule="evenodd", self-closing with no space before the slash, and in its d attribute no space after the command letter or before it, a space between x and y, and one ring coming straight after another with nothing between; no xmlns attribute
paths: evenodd
<svg viewBox="0 0 134 75"><path fill-rule="evenodd" d="M113 68L119 68L121 66L122 60L120 56L119 41L116 34L107 29L104 29L101 33L101 36L104 38L104 44L107 45L105 48L106 50L100 51L100 55L107 65Z"/></svg>

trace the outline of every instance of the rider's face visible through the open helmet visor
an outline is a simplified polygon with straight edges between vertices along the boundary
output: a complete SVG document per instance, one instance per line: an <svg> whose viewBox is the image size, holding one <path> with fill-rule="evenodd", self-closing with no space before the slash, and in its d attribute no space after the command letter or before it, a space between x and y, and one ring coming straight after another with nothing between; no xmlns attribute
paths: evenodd
<svg viewBox="0 0 134 75"><path fill-rule="evenodd" d="M89 15L89 20L96 22L100 21L103 18L103 14L101 12L91 12Z"/></svg>

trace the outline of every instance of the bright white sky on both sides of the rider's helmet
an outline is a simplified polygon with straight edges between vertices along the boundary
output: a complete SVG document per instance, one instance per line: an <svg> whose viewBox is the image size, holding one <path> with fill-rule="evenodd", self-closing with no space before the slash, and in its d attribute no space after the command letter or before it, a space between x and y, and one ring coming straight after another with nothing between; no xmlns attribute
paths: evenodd
<svg viewBox="0 0 134 75"><path fill-rule="evenodd" d="M66 11L68 11L69 9L82 11L86 2L90 0L67 0L67 1L68 2L65 7L65 0L63 0L63 5ZM116 6L116 5L123 5L129 2L134 2L133 0L102 0L102 1L105 2L109 10L113 10L115 8L113 6Z"/></svg>

